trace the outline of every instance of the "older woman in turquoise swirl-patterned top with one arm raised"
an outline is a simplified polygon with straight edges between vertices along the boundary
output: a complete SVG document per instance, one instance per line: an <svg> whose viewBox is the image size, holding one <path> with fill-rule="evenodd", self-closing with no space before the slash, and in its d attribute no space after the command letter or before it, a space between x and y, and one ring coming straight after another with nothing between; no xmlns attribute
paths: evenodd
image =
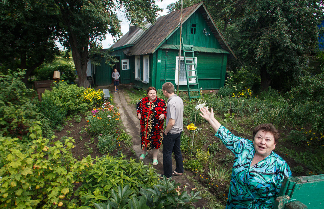
<svg viewBox="0 0 324 209"><path fill-rule="evenodd" d="M261 124L253 130L253 142L232 134L215 118L213 108L199 113L216 131L227 149L235 154L226 209L271 209L284 176L292 176L288 164L273 152L279 132L272 124Z"/></svg>

